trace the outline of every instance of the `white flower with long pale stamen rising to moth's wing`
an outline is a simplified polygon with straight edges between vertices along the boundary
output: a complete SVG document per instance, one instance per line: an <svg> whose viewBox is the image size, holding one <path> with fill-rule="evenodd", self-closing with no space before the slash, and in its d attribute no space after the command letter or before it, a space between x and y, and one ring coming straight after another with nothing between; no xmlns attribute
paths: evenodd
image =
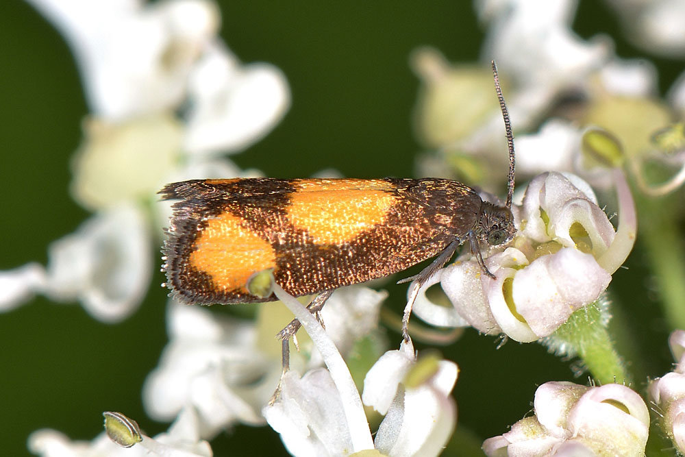
<svg viewBox="0 0 685 457"><path fill-rule="evenodd" d="M419 363L423 370L416 369L411 343L382 356L364 380L364 402L386 415L371 441L359 393L336 347L297 300L274 287L329 368L308 371L302 378L288 371L276 402L264 408L264 417L281 434L288 451L295 456L346 456L364 449L388 456L440 454L456 421L449 395L456 365L429 359Z"/></svg>

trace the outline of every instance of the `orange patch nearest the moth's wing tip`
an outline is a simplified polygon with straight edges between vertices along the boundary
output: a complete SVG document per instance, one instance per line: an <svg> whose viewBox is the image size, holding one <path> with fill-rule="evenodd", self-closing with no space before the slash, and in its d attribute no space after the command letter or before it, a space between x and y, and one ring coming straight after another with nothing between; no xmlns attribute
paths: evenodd
<svg viewBox="0 0 685 457"><path fill-rule="evenodd" d="M188 262L210 275L216 288L247 293L253 273L275 267L275 253L269 243L243 227L239 217L224 212L210 219L197 236Z"/></svg>

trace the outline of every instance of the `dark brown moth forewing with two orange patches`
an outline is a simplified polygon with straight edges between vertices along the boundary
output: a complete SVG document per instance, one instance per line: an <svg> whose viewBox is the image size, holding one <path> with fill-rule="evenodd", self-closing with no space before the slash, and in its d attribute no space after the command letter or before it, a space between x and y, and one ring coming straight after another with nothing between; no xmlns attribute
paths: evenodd
<svg viewBox="0 0 685 457"><path fill-rule="evenodd" d="M480 201L446 180L205 180L161 193L182 199L164 246L169 286L207 304L264 301L245 285L269 268L296 296L401 271L460 238Z"/></svg>

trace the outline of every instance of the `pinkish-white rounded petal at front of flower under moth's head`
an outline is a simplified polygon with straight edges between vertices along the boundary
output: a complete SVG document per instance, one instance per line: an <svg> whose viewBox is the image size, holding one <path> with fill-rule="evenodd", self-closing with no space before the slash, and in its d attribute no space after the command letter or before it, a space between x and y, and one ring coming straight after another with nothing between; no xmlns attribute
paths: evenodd
<svg viewBox="0 0 685 457"><path fill-rule="evenodd" d="M595 301L610 280L611 275L593 256L567 247L517 271L512 298L516 312L543 337L566 322L573 311Z"/></svg>

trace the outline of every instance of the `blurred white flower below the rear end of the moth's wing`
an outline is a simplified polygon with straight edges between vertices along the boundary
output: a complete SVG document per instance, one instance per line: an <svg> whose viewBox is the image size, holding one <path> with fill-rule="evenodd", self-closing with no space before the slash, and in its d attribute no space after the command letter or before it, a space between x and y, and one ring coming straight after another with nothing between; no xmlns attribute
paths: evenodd
<svg viewBox="0 0 685 457"><path fill-rule="evenodd" d="M169 344L143 388L148 414L169 421L192 405L200 434L208 439L236 421L264 423L260 410L278 384L281 366L279 358L258 350L255 325L173 299L167 325Z"/></svg>

